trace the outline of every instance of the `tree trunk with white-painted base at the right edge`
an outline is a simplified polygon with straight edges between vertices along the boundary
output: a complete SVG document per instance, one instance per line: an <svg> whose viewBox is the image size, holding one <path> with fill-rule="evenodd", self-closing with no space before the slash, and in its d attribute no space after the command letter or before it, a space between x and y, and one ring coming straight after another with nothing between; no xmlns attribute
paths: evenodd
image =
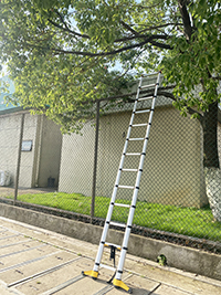
<svg viewBox="0 0 221 295"><path fill-rule="evenodd" d="M218 102L209 106L202 118L203 167L206 191L212 214L221 221L221 170L218 155Z"/></svg>

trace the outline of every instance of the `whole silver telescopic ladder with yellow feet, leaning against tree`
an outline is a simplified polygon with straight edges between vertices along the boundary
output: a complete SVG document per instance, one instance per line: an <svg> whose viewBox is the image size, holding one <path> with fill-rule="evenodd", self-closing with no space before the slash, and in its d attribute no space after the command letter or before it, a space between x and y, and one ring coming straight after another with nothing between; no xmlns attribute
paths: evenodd
<svg viewBox="0 0 221 295"><path fill-rule="evenodd" d="M141 86L144 77L148 77L150 75L156 75L156 74L157 74L156 84L149 84L149 85ZM114 272L114 275L113 275L112 280L109 281L109 283L113 281L113 285L115 287L123 288L124 291L126 291L129 294L131 294L133 291L131 291L131 288L129 288L122 281L122 275L123 275L124 263L125 263L125 257L126 257L126 253L127 253L127 245L128 245L128 241L129 241L129 234L130 234L131 225L133 225L133 219L134 219L135 209L136 209L137 196L138 196L138 191L139 191L139 183L140 183L140 178L141 178L143 167L144 167L144 160L145 160L148 138L149 138L149 131L150 131L154 110L155 110L155 103L156 103L156 98L157 98L157 91L158 91L159 82L160 82L160 74L161 74L161 71L158 72L158 73L155 73L155 74L150 74L150 75L141 75L141 77L140 77L138 89L137 89L137 95L136 95L136 99L135 99L135 104L134 104L134 109L133 109L130 122L129 122L127 137L126 137L126 140L125 140L123 155L122 155L122 159L120 159L120 164L119 164L119 169L118 169L118 172L117 172L117 177L116 177L116 181L115 181L112 199L110 199L110 202L109 202L109 208L108 208L106 221L105 221L105 224L104 224L104 229L103 229L103 233L102 233L102 238L101 238L97 255L96 255L96 259L95 259L94 268L93 268L93 271L84 271L84 272L82 272L83 275L87 275L87 276L91 276L94 280L96 280L98 277L99 267L108 268L108 270ZM154 95L139 98L140 89L144 89L144 88L152 88ZM147 99L151 99L152 101L151 102L151 108L150 109L136 110L138 102L147 101ZM134 124L135 115L141 114L141 113L149 113L148 123ZM130 138L131 128L133 127L140 127L140 126L147 126L146 136L144 138ZM127 152L128 143L131 141L131 140L143 140L144 141L143 151L141 152ZM125 157L127 157L127 156L140 156L138 169L125 169L125 168L123 168L124 161L125 161ZM134 187L131 187L131 186L120 186L119 185L120 175L124 171L137 172L136 182L135 182ZM131 198L131 204L123 204L123 203L116 203L115 202L116 196L117 196L117 190L119 188L133 189L134 190L133 198ZM128 207L129 208L129 214L128 214L128 219L127 219L127 224L123 224L123 223L112 222L110 221L112 220L112 213L113 213L113 210L114 210L115 206L117 206L117 207ZM107 232L108 232L109 225L116 225L116 226L125 228L125 233L124 233L124 239L123 239L123 244L122 245L116 245L116 244L112 244L112 243L107 243L106 242L106 236L107 236ZM105 265L105 264L101 263L105 246L109 246L110 247L110 259L114 259L114 267L110 267L109 265ZM115 267L115 250L119 250L120 251L117 268Z"/></svg>

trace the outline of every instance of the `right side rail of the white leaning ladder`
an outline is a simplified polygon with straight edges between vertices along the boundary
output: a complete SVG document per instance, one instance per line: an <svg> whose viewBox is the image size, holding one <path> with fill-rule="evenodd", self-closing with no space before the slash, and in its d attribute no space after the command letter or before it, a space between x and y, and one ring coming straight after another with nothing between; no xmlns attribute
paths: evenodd
<svg viewBox="0 0 221 295"><path fill-rule="evenodd" d="M158 86L159 86L159 78L160 78L160 72L158 73L157 83L156 83L156 87L155 87L155 94L154 94L152 104L151 104L151 112L150 112L149 122L148 122L148 126L147 126L146 138L145 138L144 146L143 146L143 152L140 156L139 168L138 168L138 173L137 173L137 178L136 178L136 185L135 185L135 189L134 189L134 193L133 193L131 207L129 210L129 215L128 215L128 220L127 220L127 225L126 225L125 235L124 235L123 245L122 245L122 251L120 251L120 256L119 256L119 262L118 262L117 272L116 272L116 276L115 276L115 278L118 281L122 280L122 274L123 274L123 270L124 270L124 263L125 263L125 257L126 257L126 253L127 253L127 245L128 245L128 241L129 241L129 234L131 231L131 224L133 224L134 213L135 213L135 209L136 209L137 196L138 196L138 191L139 191L139 183L140 183L140 179L141 179L141 172L143 172L143 167L144 167L144 161L145 161L145 156L146 156L148 136L149 136L149 131L150 131L150 126L151 126L151 120L152 120L152 115L154 115L154 108L155 108L155 103L156 103L156 97L157 97L157 91L158 91Z"/></svg>

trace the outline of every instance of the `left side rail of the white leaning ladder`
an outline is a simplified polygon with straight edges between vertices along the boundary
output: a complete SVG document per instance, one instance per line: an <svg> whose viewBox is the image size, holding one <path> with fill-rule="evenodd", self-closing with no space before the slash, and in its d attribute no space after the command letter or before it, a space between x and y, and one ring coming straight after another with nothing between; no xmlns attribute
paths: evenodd
<svg viewBox="0 0 221 295"><path fill-rule="evenodd" d="M138 103L138 97L139 97L141 83L143 83L143 76L140 77L139 86L137 88L136 99L135 99L135 104L134 104L134 108L133 108L133 113L131 113L131 117L130 117L130 122L129 122L129 127L128 127L128 130L127 130L127 137L126 137L126 140L125 140L123 155L122 155L122 159L120 159L120 162L119 162L119 168L118 168L118 171L117 171L117 177L116 177L114 190L113 190L113 193L112 193L112 199L110 199L110 202L109 202L107 217L106 217L106 220L105 220L105 225L104 225L104 229L103 229L103 233L102 233L102 238L101 238L101 241L99 241L97 255L96 255L96 259L95 259L95 264L94 264L94 268L93 268L94 272L98 272L99 264L101 264L101 261L102 261L102 256L103 256L103 252L104 252L104 245L105 245L107 232L108 232L108 229L109 229L109 223L110 223L110 219L112 219L112 214L113 214L113 210L114 210L114 203L115 203L115 200L116 200L119 179L120 179L120 175L122 175L122 170L123 170L123 166L124 166L124 161L125 161L125 156L126 156L126 151L127 151L127 146L128 146L128 141L129 141L129 137L130 137L130 133L131 133L131 126L133 126L133 123L134 123L135 112L136 112L136 108L137 108L137 103Z"/></svg>

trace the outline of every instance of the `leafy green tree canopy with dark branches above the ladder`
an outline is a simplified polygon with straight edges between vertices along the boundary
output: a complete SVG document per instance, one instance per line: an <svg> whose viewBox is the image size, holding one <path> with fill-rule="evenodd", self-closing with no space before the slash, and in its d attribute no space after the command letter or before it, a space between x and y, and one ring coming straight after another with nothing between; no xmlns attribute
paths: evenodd
<svg viewBox="0 0 221 295"><path fill-rule="evenodd" d="M161 69L175 105L201 116L220 99L221 1L1 0L0 60L24 107L77 128L92 103ZM117 64L120 67L117 67ZM192 93L196 85L201 91Z"/></svg>

